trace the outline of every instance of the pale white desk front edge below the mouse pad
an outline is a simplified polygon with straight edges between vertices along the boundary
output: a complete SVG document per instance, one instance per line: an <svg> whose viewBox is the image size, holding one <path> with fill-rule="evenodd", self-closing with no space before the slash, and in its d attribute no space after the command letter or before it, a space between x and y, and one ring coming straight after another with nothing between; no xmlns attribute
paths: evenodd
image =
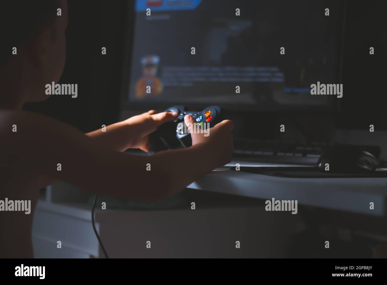
<svg viewBox="0 0 387 285"><path fill-rule="evenodd" d="M219 170L205 174L188 188L265 200L298 200L298 205L374 216L386 214L387 178L284 178Z"/></svg>

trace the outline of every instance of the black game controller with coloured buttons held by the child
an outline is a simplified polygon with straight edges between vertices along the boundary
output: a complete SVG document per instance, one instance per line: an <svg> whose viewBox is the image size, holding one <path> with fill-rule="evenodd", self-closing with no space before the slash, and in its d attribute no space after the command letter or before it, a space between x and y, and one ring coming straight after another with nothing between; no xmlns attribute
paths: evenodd
<svg viewBox="0 0 387 285"><path fill-rule="evenodd" d="M191 115L197 125L195 130L206 130L223 121L224 111L219 106L209 106L200 112L188 111L183 105L175 105L164 112L176 112L178 118L173 122L164 123L149 135L148 153L154 154L161 150L176 149L180 146L192 145L191 134L184 123L185 115Z"/></svg>

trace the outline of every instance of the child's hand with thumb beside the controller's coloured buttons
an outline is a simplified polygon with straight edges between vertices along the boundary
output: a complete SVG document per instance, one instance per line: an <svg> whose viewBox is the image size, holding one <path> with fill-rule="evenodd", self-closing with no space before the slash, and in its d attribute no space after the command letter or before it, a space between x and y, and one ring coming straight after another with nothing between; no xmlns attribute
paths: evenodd
<svg viewBox="0 0 387 285"><path fill-rule="evenodd" d="M194 133L191 130L196 123L192 116L185 116L184 121L191 133L192 145L203 145L203 151L209 152L209 160L215 159L214 168L224 166L231 161L234 151L233 135L231 134L231 130L234 128L233 121L224 120L216 124L207 130L207 136L204 133Z"/></svg>

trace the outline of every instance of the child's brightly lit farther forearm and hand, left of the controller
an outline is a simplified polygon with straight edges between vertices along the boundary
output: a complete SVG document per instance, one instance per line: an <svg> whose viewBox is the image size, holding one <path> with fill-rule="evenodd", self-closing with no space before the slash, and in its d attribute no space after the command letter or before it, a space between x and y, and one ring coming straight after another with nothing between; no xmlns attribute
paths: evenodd
<svg viewBox="0 0 387 285"><path fill-rule="evenodd" d="M102 146L113 150L124 151L130 148L147 151L148 135L157 127L177 118L177 113L162 112L154 110L130 117L129 119L106 126L102 129L92 131L86 135L91 137Z"/></svg>

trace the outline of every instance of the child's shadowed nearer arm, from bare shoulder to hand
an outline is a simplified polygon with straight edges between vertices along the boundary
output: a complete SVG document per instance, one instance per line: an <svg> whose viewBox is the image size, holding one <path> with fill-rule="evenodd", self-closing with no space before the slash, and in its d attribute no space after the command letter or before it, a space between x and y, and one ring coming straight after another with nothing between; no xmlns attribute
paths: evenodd
<svg viewBox="0 0 387 285"><path fill-rule="evenodd" d="M1 121L1 120L0 120ZM12 132L12 125L17 132ZM29 175L42 183L55 180L103 195L134 200L156 200L171 195L200 175L231 161L231 121L211 128L187 149L152 156L129 155L102 147L80 131L45 116L12 112L1 123L6 128L8 153ZM4 141L3 141L4 142ZM151 170L147 171L147 164ZM58 170L60 164L61 170ZM45 185L41 185L42 187Z"/></svg>

